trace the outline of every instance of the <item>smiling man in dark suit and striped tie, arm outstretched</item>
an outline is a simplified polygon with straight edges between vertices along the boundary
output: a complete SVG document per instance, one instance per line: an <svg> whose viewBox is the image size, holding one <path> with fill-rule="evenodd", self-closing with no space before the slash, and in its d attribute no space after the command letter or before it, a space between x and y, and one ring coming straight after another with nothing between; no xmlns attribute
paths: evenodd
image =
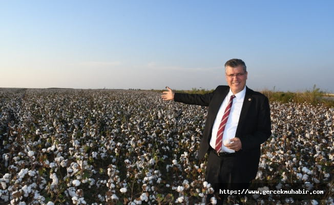
<svg viewBox="0 0 334 205"><path fill-rule="evenodd" d="M228 86L204 95L168 88L162 95L163 100L208 106L198 158L209 152L205 181L211 185L227 183L228 188L247 189L257 175L260 146L272 134L268 98L246 87L247 74L244 61L231 59L225 64Z"/></svg>

